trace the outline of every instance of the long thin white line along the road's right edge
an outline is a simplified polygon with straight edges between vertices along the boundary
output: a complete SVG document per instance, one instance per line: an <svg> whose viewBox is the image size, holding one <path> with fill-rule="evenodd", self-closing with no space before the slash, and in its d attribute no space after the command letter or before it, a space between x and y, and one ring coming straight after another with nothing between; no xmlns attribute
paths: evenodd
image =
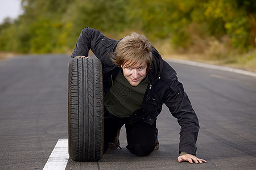
<svg viewBox="0 0 256 170"><path fill-rule="evenodd" d="M205 68L209 68L209 69L230 71L230 72L234 72L234 73L239 73L239 74L250 75L250 76L255 76L256 77L256 73L254 73L254 72L240 70L240 69L234 69L234 68L230 68L230 67L210 65L210 64L207 64L207 63L200 63L200 62L195 62L195 61L186 61L186 60L182 60L182 59L173 59L173 58L168 58L166 60L170 61L170 62L182 63L182 64L185 64L185 65L192 65L192 66L198 66L198 67L205 67Z"/></svg>

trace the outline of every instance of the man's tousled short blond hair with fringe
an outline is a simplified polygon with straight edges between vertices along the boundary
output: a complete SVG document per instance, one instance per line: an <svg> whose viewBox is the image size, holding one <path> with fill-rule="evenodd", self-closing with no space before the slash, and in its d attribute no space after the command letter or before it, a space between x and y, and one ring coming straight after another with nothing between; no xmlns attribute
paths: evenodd
<svg viewBox="0 0 256 170"><path fill-rule="evenodd" d="M152 45L146 36L133 32L118 42L112 61L118 66L127 63L125 67L146 62L148 71L152 62Z"/></svg>

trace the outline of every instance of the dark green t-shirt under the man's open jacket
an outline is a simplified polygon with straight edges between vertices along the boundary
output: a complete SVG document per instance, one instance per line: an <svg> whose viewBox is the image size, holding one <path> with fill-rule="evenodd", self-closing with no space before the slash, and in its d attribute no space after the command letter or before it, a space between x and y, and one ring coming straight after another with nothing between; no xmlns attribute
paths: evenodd
<svg viewBox="0 0 256 170"><path fill-rule="evenodd" d="M148 78L144 78L138 86L131 86L119 71L112 88L104 96L104 105L114 116L130 117L141 108L147 85Z"/></svg>

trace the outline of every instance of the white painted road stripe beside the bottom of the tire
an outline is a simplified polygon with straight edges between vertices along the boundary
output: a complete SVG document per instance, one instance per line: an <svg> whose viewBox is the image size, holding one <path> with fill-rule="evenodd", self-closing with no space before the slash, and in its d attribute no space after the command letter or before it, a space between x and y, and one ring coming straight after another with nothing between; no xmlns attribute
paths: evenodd
<svg viewBox="0 0 256 170"><path fill-rule="evenodd" d="M68 163L68 139L59 139L43 170L63 170Z"/></svg>

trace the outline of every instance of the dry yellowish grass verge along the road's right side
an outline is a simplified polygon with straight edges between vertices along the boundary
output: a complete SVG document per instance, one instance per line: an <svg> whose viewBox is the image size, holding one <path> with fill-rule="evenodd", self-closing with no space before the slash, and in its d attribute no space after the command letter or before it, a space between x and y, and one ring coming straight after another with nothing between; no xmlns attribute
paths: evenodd
<svg viewBox="0 0 256 170"><path fill-rule="evenodd" d="M216 45L217 44L217 45ZM256 72L256 49L240 54L232 48L225 48L224 44L215 43L210 46L201 46L201 50L174 50L168 42L156 42L154 44L163 58L185 59L189 61L209 63L233 67L236 69Z"/></svg>

